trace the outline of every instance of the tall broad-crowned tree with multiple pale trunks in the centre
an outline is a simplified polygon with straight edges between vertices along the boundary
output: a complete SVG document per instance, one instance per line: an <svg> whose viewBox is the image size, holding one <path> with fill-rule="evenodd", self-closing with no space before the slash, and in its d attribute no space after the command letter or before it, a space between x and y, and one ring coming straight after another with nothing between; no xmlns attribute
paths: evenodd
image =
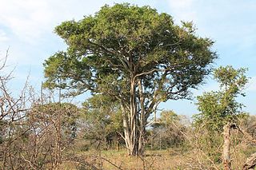
<svg viewBox="0 0 256 170"><path fill-rule="evenodd" d="M158 104L189 98L216 58L214 42L198 37L191 22L177 26L150 6L103 6L55 32L68 48L45 61L45 85L118 101L130 155L143 153L147 120Z"/></svg>

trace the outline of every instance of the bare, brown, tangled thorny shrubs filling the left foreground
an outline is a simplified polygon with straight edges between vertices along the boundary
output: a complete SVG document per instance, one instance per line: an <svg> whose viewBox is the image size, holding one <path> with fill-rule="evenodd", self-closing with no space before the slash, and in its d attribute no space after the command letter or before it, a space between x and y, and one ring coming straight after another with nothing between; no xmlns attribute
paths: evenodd
<svg viewBox="0 0 256 170"><path fill-rule="evenodd" d="M1 71L5 65L6 58ZM64 160L74 160L65 152L76 136L78 108L35 93L28 81L13 93L11 81L11 73L0 75L0 168L60 169Z"/></svg>

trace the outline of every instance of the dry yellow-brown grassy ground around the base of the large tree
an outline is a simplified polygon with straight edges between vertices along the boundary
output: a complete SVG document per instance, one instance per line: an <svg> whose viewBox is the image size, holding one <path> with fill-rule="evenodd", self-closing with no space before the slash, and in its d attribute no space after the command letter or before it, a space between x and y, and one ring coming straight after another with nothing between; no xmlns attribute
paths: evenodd
<svg viewBox="0 0 256 170"><path fill-rule="evenodd" d="M145 156L127 156L126 150L102 150L102 151L80 151L75 152L78 160L64 161L60 169L123 169L123 170L178 170L178 169L222 169L222 161L214 162L205 152L196 149L189 151L182 148L169 148L166 150L147 149ZM74 153L74 150L72 151ZM248 152L248 153L246 153ZM232 169L241 169L246 158L254 153L255 147L237 149L231 148ZM66 157L74 157L66 152ZM220 157L221 159L221 157Z"/></svg>

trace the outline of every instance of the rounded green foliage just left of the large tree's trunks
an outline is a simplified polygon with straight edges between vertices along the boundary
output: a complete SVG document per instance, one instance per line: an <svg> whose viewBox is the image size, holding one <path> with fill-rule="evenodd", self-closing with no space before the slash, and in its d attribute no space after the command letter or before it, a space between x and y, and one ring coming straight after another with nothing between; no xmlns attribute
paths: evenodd
<svg viewBox="0 0 256 170"><path fill-rule="evenodd" d="M122 142L122 112L119 105L110 97L94 95L85 101L82 108L84 137L92 143L100 141L110 147L115 140Z"/></svg>

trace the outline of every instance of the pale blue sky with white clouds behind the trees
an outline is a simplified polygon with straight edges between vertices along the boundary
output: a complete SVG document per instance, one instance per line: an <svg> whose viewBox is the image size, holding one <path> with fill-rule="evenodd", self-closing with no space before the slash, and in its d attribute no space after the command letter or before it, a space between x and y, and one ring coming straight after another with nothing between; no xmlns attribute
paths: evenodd
<svg viewBox="0 0 256 170"><path fill-rule="evenodd" d="M193 21L198 35L215 41L213 49L219 56L215 67L234 65L234 68L249 69L247 96L239 101L246 105L246 111L256 113L256 1L253 0L0 0L0 57L10 47L6 70L15 68L10 89L21 89L28 74L31 85L36 88L41 85L43 61L54 52L66 49L62 39L54 34L55 26L66 20L82 19L114 2L149 5L172 15L177 24L181 20ZM218 85L209 77L206 85L194 91L194 96L216 89ZM198 112L194 101L168 101L160 107L189 116Z"/></svg>

